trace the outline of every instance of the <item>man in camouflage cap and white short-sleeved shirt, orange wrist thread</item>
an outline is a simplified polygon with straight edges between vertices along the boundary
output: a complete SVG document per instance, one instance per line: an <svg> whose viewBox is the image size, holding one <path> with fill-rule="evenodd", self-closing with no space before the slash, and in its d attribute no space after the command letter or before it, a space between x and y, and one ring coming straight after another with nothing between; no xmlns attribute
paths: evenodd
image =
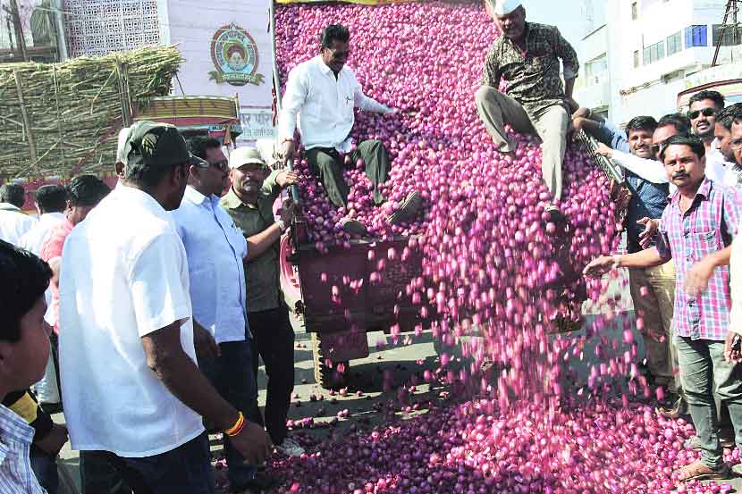
<svg viewBox="0 0 742 494"><path fill-rule="evenodd" d="M125 178L64 245L62 395L72 448L100 451L134 492L213 494L202 417L252 465L270 452L198 370L188 260L168 211L193 156L172 125L140 122ZM95 351L91 351L91 348Z"/></svg>

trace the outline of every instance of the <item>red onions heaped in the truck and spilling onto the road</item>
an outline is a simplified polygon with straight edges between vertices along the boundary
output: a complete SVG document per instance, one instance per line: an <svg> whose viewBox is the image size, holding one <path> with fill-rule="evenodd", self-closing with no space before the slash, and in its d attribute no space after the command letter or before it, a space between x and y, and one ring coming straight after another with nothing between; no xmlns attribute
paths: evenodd
<svg viewBox="0 0 742 494"><path fill-rule="evenodd" d="M350 28L349 66L366 94L401 112L358 113L353 131L357 141L382 140L392 156L381 207L373 205L363 163L348 162L347 210L331 205L307 163L297 163L310 238L322 251L349 247L339 227L345 216L378 237L415 235L409 248L422 252L424 276L409 283L407 296L445 344L475 330L483 338L463 348L468 365L454 372L444 354L438 373L472 399L276 461L269 470L286 481L279 492L669 491L672 470L696 457L682 449L693 428L647 405L655 390L638 375L630 322L624 347L603 339L594 350L601 360L586 389L569 388L563 363L581 358L587 337L611 314L580 339L549 336L556 321L579 320L587 297L601 297L604 285L578 273L594 256L617 250L615 206L603 172L570 144L560 204L567 224L546 222L552 197L541 180L537 138L511 133L519 144L514 160L494 149L474 103L497 34L481 2L282 6L276 34L283 83L318 53L319 34L331 23ZM386 224L415 189L426 199L424 213L409 224ZM482 372L483 364L501 372ZM628 386L608 382L621 377L631 378ZM729 459L738 461L738 453Z"/></svg>

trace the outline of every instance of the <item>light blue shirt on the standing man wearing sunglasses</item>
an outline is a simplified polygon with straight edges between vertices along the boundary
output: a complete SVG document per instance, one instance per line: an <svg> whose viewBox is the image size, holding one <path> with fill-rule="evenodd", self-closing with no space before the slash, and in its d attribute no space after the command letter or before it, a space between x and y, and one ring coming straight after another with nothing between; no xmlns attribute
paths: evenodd
<svg viewBox="0 0 742 494"><path fill-rule="evenodd" d="M248 332L245 268L248 241L219 205L188 186L171 212L188 256L193 318L216 343L243 341Z"/></svg>

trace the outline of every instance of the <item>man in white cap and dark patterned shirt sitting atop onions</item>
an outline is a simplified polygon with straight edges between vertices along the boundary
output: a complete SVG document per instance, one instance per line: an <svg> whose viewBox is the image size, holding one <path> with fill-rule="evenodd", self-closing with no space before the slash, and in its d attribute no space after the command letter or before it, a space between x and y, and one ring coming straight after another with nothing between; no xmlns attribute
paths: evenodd
<svg viewBox="0 0 742 494"><path fill-rule="evenodd" d="M541 138L541 172L552 193L552 203L544 208L557 219L561 217L561 162L569 115L577 110L572 89L578 76L578 55L559 29L527 22L519 0L485 0L485 7L502 35L487 54L482 87L476 91L477 111L502 153L512 156L515 152L505 124L516 132L535 131ZM500 92L501 80L505 80L507 94Z"/></svg>

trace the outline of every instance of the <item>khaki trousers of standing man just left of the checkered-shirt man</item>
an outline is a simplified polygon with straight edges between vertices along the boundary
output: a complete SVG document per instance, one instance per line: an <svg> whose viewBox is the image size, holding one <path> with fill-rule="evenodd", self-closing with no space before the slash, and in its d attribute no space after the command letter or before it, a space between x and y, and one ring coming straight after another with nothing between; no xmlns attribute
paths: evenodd
<svg viewBox="0 0 742 494"><path fill-rule="evenodd" d="M675 263L647 269L629 269L628 287L637 317L644 319L646 364L655 378L661 378L672 392L681 389L678 351L672 343L672 310L675 302ZM642 295L642 287L646 287ZM652 335L663 335L664 341Z"/></svg>

